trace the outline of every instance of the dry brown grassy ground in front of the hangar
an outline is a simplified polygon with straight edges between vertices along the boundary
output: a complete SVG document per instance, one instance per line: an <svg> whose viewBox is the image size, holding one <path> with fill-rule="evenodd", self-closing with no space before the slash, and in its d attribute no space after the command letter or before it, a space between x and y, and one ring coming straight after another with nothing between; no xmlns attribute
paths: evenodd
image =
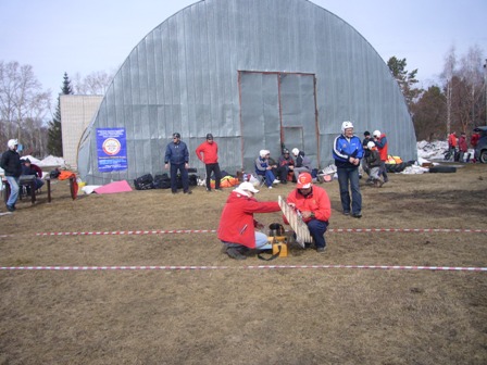
<svg viewBox="0 0 487 365"><path fill-rule="evenodd" d="M486 364L487 272L291 268L289 265L487 266L487 234L338 228L487 229L487 165L361 181L363 217L330 197L328 250L290 247L266 263L222 252L228 191L83 196L53 181L0 216L0 266L197 265L200 269L0 270L0 364ZM292 185L262 189L259 200ZM1 212L5 212L1 205ZM269 225L280 214L259 214ZM7 236L7 237L5 237ZM286 268L254 268L255 265Z"/></svg>

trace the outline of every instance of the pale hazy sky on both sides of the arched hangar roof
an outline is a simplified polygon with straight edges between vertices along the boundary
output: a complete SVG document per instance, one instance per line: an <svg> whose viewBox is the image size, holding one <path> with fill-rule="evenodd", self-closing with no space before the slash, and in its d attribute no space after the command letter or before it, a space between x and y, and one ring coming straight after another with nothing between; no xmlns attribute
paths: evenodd
<svg viewBox="0 0 487 365"><path fill-rule="evenodd" d="M195 0L0 0L0 61L30 64L43 89L60 92L63 74L115 72L154 27ZM407 59L430 83L454 46L487 56L487 0L313 0L338 15L383 60Z"/></svg>

